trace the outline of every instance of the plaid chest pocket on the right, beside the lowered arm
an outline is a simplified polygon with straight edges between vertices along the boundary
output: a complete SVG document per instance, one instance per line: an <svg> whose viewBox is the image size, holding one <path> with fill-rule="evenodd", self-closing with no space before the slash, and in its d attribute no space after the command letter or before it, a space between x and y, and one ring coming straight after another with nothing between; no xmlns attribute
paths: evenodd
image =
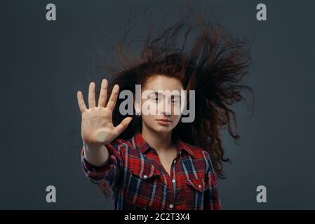
<svg viewBox="0 0 315 224"><path fill-rule="evenodd" d="M190 210L203 209L206 184L204 179L190 178L185 184L185 200Z"/></svg>

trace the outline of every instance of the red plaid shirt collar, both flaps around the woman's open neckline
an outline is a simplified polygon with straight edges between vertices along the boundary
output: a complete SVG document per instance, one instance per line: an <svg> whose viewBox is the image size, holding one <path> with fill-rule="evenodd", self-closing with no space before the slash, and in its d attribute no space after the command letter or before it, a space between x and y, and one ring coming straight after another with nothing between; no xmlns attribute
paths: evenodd
<svg viewBox="0 0 315 224"><path fill-rule="evenodd" d="M135 134L135 137L133 138L135 141L135 146L139 149L140 153L145 154L149 148L152 148L147 141L142 137L142 134L138 133ZM189 155L192 155L193 158L196 158L196 155L192 152L192 150L185 144L182 139L179 137L175 138L175 144L177 149L177 155L180 153L180 151L185 151L189 153Z"/></svg>

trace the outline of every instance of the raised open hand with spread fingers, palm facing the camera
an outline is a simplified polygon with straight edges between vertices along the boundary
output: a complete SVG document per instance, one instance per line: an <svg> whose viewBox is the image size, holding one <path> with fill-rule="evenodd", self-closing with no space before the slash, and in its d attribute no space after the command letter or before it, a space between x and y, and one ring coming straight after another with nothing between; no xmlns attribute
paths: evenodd
<svg viewBox="0 0 315 224"><path fill-rule="evenodd" d="M95 83L90 83L88 88L88 106L84 103L83 94L78 91L76 97L78 99L79 108L82 114L81 135L82 139L88 145L108 144L126 129L131 117L123 119L119 125L114 127L112 123L112 112L116 104L119 93L119 85L114 85L112 94L109 98L107 106L107 80L103 79L100 90L100 98L98 106L95 104Z"/></svg>

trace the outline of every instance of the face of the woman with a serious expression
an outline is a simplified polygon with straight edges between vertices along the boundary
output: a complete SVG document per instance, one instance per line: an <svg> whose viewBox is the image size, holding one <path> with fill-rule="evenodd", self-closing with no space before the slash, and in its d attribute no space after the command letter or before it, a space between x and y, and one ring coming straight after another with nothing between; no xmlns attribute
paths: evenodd
<svg viewBox="0 0 315 224"><path fill-rule="evenodd" d="M180 80L167 76L155 75L141 86L142 127L154 132L167 133L180 121L180 93L183 87ZM138 105L138 111L139 111ZM147 109L155 111L147 114Z"/></svg>

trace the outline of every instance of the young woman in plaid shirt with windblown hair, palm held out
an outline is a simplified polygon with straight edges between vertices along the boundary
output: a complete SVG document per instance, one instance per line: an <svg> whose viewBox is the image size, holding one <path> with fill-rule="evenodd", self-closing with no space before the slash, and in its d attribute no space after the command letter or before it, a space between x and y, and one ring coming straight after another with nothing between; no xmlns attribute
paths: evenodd
<svg viewBox="0 0 315 224"><path fill-rule="evenodd" d="M82 92L77 92L83 171L103 193L110 190L115 209L222 208L217 177L224 177L222 162L228 159L224 159L220 129L227 125L229 134L239 138L229 106L243 99L241 90L251 90L240 83L250 54L246 43L222 27L209 27L202 20L198 27L188 50L192 25L184 20L153 40L149 34L138 59L124 55L121 43L116 49L123 69L112 70L110 83L102 79L97 97L95 83L90 84L88 108ZM185 35L178 48L180 31ZM141 105L155 106L156 113L143 113L135 102L136 115L122 115L119 90L129 90L135 97L139 84L142 94L151 91ZM180 122L184 115L175 113L182 106L180 95L163 94L166 90L195 91L194 98L187 92L185 99L187 107L194 105L192 122Z"/></svg>

